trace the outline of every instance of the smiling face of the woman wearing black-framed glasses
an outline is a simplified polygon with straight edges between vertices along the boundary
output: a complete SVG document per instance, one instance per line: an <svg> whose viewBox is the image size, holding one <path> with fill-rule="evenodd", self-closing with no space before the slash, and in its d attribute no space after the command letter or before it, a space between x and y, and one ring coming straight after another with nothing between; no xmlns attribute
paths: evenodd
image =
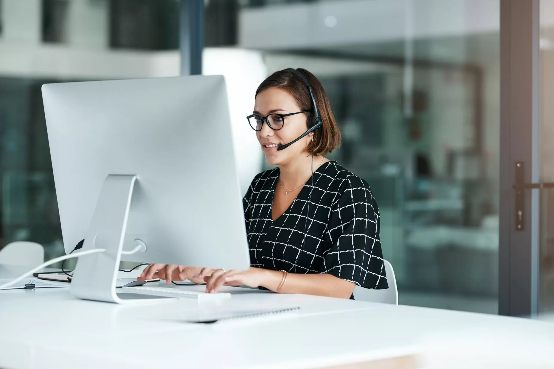
<svg viewBox="0 0 554 369"><path fill-rule="evenodd" d="M299 111L301 109L296 105L294 97L288 91L279 89L279 87L270 87L267 90L261 91L256 96L253 113L265 117L271 113L288 114ZM306 131L307 116L308 113L302 113L285 117L283 128L278 131L269 128L264 120L261 131L257 131L256 136L260 142L261 149L264 151L265 159L269 164L287 164L306 152L306 147L310 142L312 133L302 137L286 149L278 151L277 148L279 145L294 141L294 139Z"/></svg>

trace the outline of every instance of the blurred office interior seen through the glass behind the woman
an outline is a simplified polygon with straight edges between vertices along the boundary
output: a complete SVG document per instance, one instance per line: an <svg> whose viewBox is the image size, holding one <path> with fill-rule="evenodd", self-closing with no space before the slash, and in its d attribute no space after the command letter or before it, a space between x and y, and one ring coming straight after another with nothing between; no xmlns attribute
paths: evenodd
<svg viewBox="0 0 554 369"><path fill-rule="evenodd" d="M399 302L496 314L499 0L204 5L203 73L227 77L243 190L266 168L256 87L305 67L342 128L329 158L378 201ZM0 0L0 248L64 252L40 86L177 76L178 48L178 0Z"/></svg>

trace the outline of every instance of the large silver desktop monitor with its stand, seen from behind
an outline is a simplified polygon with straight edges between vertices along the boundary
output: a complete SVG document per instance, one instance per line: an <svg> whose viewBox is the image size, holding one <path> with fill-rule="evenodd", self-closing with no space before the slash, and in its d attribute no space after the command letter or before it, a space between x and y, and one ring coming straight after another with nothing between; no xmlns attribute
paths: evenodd
<svg viewBox="0 0 554 369"><path fill-rule="evenodd" d="M120 260L250 266L223 76L48 84L42 94L65 251L83 238L83 250L106 248L79 259L74 295L121 303ZM137 240L146 251L121 254Z"/></svg>

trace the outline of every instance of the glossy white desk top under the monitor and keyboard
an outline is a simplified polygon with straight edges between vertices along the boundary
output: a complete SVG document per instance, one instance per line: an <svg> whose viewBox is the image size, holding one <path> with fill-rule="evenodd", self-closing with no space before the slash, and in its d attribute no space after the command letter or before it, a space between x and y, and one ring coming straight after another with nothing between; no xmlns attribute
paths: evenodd
<svg viewBox="0 0 554 369"><path fill-rule="evenodd" d="M0 266L0 278L20 271ZM128 306L76 300L69 288L4 290L0 368L322 368L411 357L434 337L454 340L474 326L514 340L554 342L554 325L526 319L224 290L233 293L228 306L301 310L199 325L179 320L183 311L201 307L193 299Z"/></svg>

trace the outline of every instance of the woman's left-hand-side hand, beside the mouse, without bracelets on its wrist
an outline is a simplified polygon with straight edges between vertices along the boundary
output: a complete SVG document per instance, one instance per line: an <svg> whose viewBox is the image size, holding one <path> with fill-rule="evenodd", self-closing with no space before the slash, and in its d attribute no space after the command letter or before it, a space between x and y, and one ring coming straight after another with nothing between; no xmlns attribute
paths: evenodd
<svg viewBox="0 0 554 369"><path fill-rule="evenodd" d="M204 283L204 277L210 276L214 269L187 267L172 264L150 264L137 280L165 279L167 284L172 280L190 280L193 283Z"/></svg>

